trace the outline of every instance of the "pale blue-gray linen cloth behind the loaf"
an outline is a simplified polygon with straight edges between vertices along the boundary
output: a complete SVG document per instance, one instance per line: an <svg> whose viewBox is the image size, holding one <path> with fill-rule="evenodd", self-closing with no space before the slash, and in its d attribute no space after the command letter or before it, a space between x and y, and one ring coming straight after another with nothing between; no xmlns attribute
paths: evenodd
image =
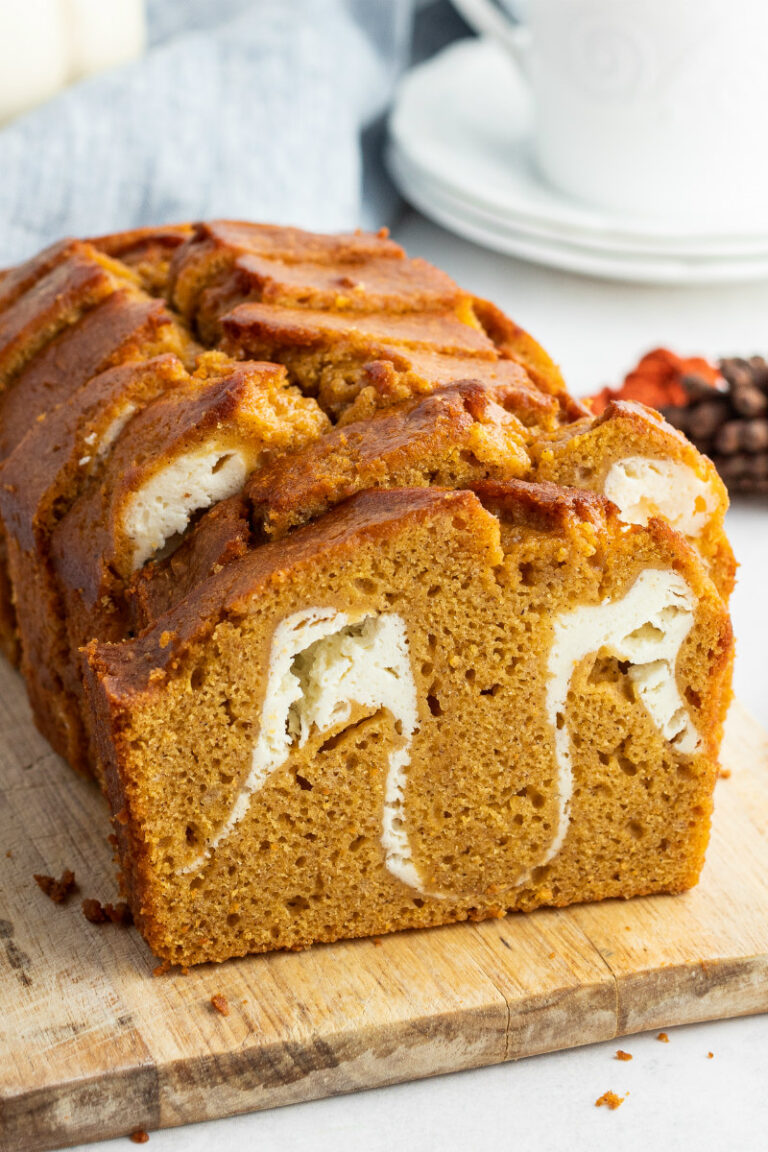
<svg viewBox="0 0 768 1152"><path fill-rule="evenodd" d="M150 0L150 46L0 130L0 267L63 235L227 215L388 222L365 131L408 0ZM375 159L375 158L373 158Z"/></svg>

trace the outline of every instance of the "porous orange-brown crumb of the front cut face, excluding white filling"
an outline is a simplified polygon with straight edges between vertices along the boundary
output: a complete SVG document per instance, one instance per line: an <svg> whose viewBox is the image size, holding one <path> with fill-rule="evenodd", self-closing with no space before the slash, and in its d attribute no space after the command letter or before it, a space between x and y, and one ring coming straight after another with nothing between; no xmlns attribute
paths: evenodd
<svg viewBox="0 0 768 1152"><path fill-rule="evenodd" d="M698 598L677 679L704 748L680 756L662 738L610 652L583 660L565 717L571 821L562 850L539 866L556 832L545 708L553 619L621 598L649 567L682 568ZM424 892L385 864L383 789L400 741L386 711L352 711L294 746L210 859L184 871L238 795L274 629L303 607L405 622L420 725L406 819ZM177 673L131 702L124 729L120 721L122 798L142 836L127 880L143 931L158 955L195 963L682 890L695 882L707 840L723 643L712 584L674 539L649 530L607 540L588 524L545 531L461 513L363 543L353 558L314 558L191 645Z"/></svg>

